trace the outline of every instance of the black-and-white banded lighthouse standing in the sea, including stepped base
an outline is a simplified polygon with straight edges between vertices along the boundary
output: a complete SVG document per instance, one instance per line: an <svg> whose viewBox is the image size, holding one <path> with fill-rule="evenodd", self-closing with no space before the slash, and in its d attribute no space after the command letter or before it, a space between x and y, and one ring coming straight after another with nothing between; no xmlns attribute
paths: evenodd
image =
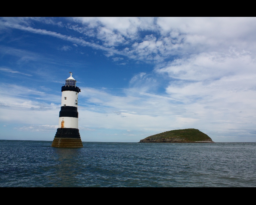
<svg viewBox="0 0 256 205"><path fill-rule="evenodd" d="M61 87L61 111L59 114L59 126L52 142L52 147L80 148L83 147L78 129L78 93L76 80L72 77L66 79Z"/></svg>

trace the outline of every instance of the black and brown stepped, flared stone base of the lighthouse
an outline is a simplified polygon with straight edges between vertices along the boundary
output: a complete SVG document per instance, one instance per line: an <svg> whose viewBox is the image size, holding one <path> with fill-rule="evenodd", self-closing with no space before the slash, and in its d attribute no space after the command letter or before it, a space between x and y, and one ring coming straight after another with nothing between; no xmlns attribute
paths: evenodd
<svg viewBox="0 0 256 205"><path fill-rule="evenodd" d="M58 128L52 147L58 148L80 148L83 147L80 138L79 129L75 128Z"/></svg>

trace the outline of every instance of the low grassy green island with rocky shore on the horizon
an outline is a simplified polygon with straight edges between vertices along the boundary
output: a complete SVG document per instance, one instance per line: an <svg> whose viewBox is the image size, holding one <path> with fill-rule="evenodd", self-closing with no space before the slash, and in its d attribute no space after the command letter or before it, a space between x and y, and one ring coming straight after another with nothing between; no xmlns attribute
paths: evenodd
<svg viewBox="0 0 256 205"><path fill-rule="evenodd" d="M213 143L212 139L198 129L176 129L146 137L139 142Z"/></svg>

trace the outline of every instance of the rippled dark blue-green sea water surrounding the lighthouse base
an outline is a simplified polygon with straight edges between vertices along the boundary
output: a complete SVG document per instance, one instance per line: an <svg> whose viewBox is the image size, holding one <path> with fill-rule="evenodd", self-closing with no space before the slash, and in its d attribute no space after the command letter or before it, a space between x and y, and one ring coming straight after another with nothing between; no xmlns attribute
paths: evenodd
<svg viewBox="0 0 256 205"><path fill-rule="evenodd" d="M256 143L0 140L0 187L255 187Z"/></svg>

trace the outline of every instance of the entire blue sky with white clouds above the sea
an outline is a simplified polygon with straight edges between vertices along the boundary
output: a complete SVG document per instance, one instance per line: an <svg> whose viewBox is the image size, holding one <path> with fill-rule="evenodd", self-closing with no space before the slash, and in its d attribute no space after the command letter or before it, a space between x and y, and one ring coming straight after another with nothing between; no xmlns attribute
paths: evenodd
<svg viewBox="0 0 256 205"><path fill-rule="evenodd" d="M0 139L52 141L72 72L83 142L255 142L255 33L255 17L0 17Z"/></svg>

